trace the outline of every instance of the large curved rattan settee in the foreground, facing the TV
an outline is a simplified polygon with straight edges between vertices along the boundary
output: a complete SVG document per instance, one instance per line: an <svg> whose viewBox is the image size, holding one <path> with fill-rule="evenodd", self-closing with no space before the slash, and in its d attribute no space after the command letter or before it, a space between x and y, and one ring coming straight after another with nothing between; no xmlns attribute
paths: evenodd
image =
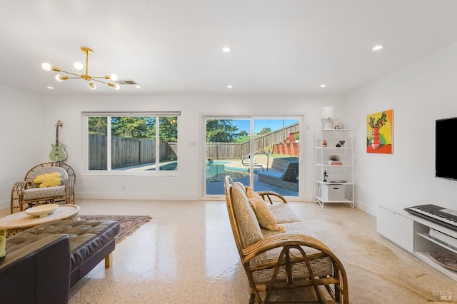
<svg viewBox="0 0 457 304"><path fill-rule="evenodd" d="M251 290L249 303L271 303L273 290L293 290L292 302L298 303L349 302L343 264L321 241L293 229L301 226L306 230L303 223L285 223L289 225L286 233L268 236L258 226L243 184L233 183L226 176L225 193L233 237ZM288 209L286 200L277 193L258 194L270 202L276 196L281 199L278 205L282 205L276 209ZM303 299L295 299L298 297Z"/></svg>

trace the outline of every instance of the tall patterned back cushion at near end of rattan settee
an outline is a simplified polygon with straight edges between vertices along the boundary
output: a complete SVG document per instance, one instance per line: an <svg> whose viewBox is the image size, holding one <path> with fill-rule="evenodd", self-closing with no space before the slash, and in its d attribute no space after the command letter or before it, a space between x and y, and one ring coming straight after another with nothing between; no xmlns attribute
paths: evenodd
<svg viewBox="0 0 457 304"><path fill-rule="evenodd" d="M258 225L254 211L249 205L242 183L233 183L231 197L233 198L233 210L238 219L238 229L240 230L243 247L246 248L263 238L261 228Z"/></svg>

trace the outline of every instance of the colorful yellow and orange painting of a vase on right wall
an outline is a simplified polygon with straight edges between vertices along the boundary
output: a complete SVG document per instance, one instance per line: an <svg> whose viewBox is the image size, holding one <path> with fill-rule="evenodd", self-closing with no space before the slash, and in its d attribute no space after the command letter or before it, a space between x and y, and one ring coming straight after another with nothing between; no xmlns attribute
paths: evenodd
<svg viewBox="0 0 457 304"><path fill-rule="evenodd" d="M393 153L393 110L366 116L366 153Z"/></svg>

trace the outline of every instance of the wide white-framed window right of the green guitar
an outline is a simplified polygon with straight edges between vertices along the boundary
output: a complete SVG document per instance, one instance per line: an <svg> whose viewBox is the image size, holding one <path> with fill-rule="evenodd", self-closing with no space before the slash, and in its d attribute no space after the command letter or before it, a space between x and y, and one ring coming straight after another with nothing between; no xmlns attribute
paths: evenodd
<svg viewBox="0 0 457 304"><path fill-rule="evenodd" d="M179 115L84 113L86 172L154 175L177 171Z"/></svg>

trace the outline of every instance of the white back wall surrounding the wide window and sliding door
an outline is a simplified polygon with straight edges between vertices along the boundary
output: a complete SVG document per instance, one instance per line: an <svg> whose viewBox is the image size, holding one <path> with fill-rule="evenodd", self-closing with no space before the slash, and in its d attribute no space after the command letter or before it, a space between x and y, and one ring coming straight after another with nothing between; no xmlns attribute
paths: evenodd
<svg viewBox="0 0 457 304"><path fill-rule="evenodd" d="M26 93L23 93L26 95ZM25 99L25 98L24 98ZM37 98L36 98L37 99ZM344 106L339 96L46 96L40 109L40 132L34 140L34 161L22 166L15 178L24 178L27 168L35 163L48 161L51 143L55 141L55 124L63 122L59 129L59 140L66 145L66 163L76 171L76 198L133 198L196 200L201 198L203 188L203 144L204 132L201 116L204 114L238 115L304 115L305 129L301 151L304 151L306 178L304 187L306 200L313 201L313 130L321 121L323 106L336 106L336 121L343 120ZM34 98L24 100L19 108L36 103ZM19 109L16 110L19 112ZM81 112L83 111L181 111L179 118L179 176L81 176L82 138ZM33 115L33 113L31 113ZM343 120L344 121L344 120ZM0 126L3 123L0 122ZM26 131L22 128L19 133ZM20 135L19 135L20 136ZM302 136L301 136L302 138ZM197 143L190 147L189 143ZM9 145L10 146L10 145ZM303 150L304 149L304 150ZM8 160L10 161L10 160ZM20 161L11 160L12 164ZM14 169L16 167L14 166ZM6 191L11 191L15 178L0 173ZM121 185L126 190L121 190ZM2 192L2 200L8 200L9 193Z"/></svg>

